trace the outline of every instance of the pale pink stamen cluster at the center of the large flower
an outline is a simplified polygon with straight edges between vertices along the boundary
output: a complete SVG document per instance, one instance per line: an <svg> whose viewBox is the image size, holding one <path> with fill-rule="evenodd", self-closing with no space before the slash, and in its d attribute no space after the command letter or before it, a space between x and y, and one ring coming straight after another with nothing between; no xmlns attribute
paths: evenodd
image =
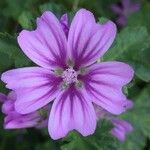
<svg viewBox="0 0 150 150"><path fill-rule="evenodd" d="M67 85L77 82L77 72L72 67L68 68L63 72L62 78Z"/></svg>

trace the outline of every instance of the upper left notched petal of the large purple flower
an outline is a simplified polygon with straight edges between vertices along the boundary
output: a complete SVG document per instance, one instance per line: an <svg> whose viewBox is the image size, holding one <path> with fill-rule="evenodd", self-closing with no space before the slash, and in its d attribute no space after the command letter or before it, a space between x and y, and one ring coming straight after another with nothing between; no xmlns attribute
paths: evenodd
<svg viewBox="0 0 150 150"><path fill-rule="evenodd" d="M59 20L49 11L37 19L35 31L23 30L18 36L23 52L44 68L65 67L67 40Z"/></svg>

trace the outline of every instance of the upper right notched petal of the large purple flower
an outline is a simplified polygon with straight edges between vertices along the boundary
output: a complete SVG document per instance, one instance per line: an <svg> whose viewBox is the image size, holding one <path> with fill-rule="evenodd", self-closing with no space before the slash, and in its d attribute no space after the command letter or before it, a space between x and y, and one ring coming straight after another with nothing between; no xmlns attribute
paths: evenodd
<svg viewBox="0 0 150 150"><path fill-rule="evenodd" d="M68 47L75 68L88 66L98 60L111 46L116 35L116 25L108 21L96 24L91 12L79 10L70 26Z"/></svg>

